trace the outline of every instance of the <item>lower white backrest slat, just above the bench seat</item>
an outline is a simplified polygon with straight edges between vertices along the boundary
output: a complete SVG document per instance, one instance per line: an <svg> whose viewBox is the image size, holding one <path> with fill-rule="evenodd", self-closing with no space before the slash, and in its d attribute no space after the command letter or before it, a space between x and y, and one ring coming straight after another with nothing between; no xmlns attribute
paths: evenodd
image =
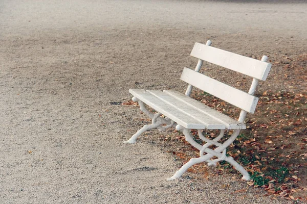
<svg viewBox="0 0 307 204"><path fill-rule="evenodd" d="M258 98L244 91L228 86L186 67L180 79L249 113L255 112Z"/></svg>

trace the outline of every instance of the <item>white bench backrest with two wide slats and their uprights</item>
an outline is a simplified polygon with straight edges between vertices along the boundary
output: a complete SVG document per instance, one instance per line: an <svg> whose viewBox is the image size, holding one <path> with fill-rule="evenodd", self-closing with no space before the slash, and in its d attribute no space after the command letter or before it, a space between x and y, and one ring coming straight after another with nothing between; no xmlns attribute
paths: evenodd
<svg viewBox="0 0 307 204"><path fill-rule="evenodd" d="M207 44L195 43L191 56L198 58L199 63L194 70L184 68L181 80L189 85L186 95L190 95L192 86L197 87L211 95L214 95L228 103L243 110L240 114L239 121L242 122L246 112L254 113L258 98L253 96L258 85L258 80L265 81L271 69L271 64L267 63L267 57L262 60L255 60L242 55L227 52L222 49L211 47L211 41ZM207 77L199 73L203 61L228 68L239 73L246 74L253 78L251 88L248 93L226 85L222 82Z"/></svg>

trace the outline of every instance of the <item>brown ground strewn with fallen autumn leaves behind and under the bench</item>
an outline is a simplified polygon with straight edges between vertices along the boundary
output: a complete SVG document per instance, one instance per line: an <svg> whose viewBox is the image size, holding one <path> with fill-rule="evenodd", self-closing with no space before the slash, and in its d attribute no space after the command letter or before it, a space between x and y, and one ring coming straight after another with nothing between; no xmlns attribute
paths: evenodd
<svg viewBox="0 0 307 204"><path fill-rule="evenodd" d="M227 156L233 157L248 170L252 180L247 182L247 186L263 188L267 191L266 195L284 197L297 203L307 201L307 54L292 58L287 55L274 56L271 63L273 68L281 69L283 75L273 77L274 82L261 87L267 90L256 93L259 97L256 112L247 115L247 129L227 149ZM270 89L274 87L273 83L276 87L284 88ZM242 86L241 83L237 84ZM191 97L235 119L239 116L240 110L206 92L194 90ZM122 105L137 106L137 103L128 100ZM194 140L202 143L197 131L191 132ZM212 139L217 132L206 131L204 134ZM169 151L183 164L199 157L198 151L179 131L174 130L169 136L161 136L161 139L184 144L176 151ZM224 161L217 165L215 174L222 174L223 171L239 174ZM205 179L209 177L208 167L204 163L192 166L188 172L202 174ZM234 193L244 191L240 189Z"/></svg>

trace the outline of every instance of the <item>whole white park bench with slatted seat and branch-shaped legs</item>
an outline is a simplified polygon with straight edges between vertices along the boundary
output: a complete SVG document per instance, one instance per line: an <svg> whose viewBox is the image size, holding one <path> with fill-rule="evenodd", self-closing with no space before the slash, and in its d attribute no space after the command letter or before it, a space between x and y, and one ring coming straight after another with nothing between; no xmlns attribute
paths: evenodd
<svg viewBox="0 0 307 204"><path fill-rule="evenodd" d="M130 89L129 92L134 95L133 101L138 101L141 111L152 118L152 123L144 125L135 135L125 143L135 143L137 138L147 130L158 128L160 131L168 127L176 127L182 131L188 141L195 148L200 150L200 157L193 158L183 165L168 180L180 177L189 167L200 162L207 162L208 165L216 165L218 161L227 161L233 165L240 173L243 174L243 180L249 180L248 172L239 165L232 157L226 156L226 148L236 139L240 130L246 129L244 119L246 114L254 113L258 98L253 96L258 80L265 81L271 69L271 64L267 63L267 56L263 56L261 61L248 58L245 56L233 54L222 49L211 47L211 41L208 40L206 45L195 43L191 56L198 58L199 62L195 70L184 68L181 80L188 83L189 86L185 94L171 90L143 90ZM248 93L228 86L222 82L199 73L203 61L222 66L239 73L248 75L253 78ZM242 109L238 120L228 117L206 105L189 97L192 88L199 88L211 95L214 95L228 103ZM153 114L145 108L145 104L156 110L158 113ZM164 115L166 117L160 117ZM166 124L166 126L162 126ZM191 129L198 130L200 139L205 144L201 145L193 140L190 134ZM210 140L203 136L202 130L221 130L220 135ZM224 143L218 142L226 130L233 130L231 137ZM215 148L209 148L216 146ZM212 159L213 157L217 159Z"/></svg>

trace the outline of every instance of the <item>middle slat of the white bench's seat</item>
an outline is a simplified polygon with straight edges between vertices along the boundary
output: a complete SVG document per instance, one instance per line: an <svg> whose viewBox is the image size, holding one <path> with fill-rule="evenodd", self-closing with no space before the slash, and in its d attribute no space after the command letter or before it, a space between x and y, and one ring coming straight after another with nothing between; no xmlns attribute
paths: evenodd
<svg viewBox="0 0 307 204"><path fill-rule="evenodd" d="M183 112L189 117L198 120L202 124L205 124L206 129L216 130L216 129L226 128L225 124L223 124L222 122L215 120L214 118L200 112L198 109L195 109L192 106L186 105L181 100L178 100L177 98L174 98L165 92L159 90L147 90L147 91L152 95L155 95L165 103L171 105L172 107L177 108L179 111Z"/></svg>

